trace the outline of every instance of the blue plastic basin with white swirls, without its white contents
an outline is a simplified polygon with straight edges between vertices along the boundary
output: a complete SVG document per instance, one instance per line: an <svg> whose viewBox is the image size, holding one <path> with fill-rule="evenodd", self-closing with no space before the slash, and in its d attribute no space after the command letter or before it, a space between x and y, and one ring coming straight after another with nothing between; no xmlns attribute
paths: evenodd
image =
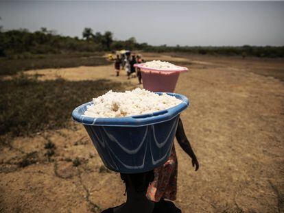
<svg viewBox="0 0 284 213"><path fill-rule="evenodd" d="M189 100L184 95L167 95L182 100L182 103L152 114L91 118L83 116L86 106L93 104L88 102L75 108L72 118L84 125L107 168L119 173L143 173L167 161L180 112L189 106Z"/></svg>

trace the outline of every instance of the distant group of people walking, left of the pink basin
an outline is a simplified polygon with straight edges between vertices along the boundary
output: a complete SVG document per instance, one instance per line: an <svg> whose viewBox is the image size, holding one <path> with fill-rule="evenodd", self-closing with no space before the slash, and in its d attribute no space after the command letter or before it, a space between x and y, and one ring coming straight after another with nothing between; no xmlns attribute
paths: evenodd
<svg viewBox="0 0 284 213"><path fill-rule="evenodd" d="M119 76L120 70L124 69L128 79L130 79L130 77L138 77L139 84L142 84L141 70L140 68L135 68L134 64L143 62L144 60L141 58L141 55L122 54L121 57L117 55L117 58L115 59L115 72L117 73L117 76Z"/></svg>

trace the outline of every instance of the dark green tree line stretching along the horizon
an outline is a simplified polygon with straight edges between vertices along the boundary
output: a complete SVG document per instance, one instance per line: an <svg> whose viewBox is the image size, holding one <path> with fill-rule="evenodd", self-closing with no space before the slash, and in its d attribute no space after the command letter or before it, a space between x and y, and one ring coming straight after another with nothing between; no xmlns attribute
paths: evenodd
<svg viewBox="0 0 284 213"><path fill-rule="evenodd" d="M0 28L0 57L23 55L24 58L33 54L58 54L66 52L114 51L119 49L143 50L153 52L184 52L203 55L241 55L281 58L284 57L284 47L256 47L244 45L241 47L188 47L179 45L153 46L139 43L134 37L127 40L115 40L112 32L93 32L86 27L82 39L78 37L61 36L52 30L42 27L36 32L27 29L3 30Z"/></svg>

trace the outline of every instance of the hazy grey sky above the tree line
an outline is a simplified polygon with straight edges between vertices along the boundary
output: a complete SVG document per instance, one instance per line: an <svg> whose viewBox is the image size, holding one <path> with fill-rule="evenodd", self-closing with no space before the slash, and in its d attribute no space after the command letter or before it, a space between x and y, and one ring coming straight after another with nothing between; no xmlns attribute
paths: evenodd
<svg viewBox="0 0 284 213"><path fill-rule="evenodd" d="M4 29L91 27L150 45L284 45L284 2L0 1L0 16Z"/></svg>

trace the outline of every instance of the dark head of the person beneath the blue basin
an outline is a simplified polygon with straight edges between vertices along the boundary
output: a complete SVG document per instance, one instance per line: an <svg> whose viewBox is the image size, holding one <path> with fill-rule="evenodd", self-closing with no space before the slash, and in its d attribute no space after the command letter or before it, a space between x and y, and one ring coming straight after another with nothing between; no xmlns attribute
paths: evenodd
<svg viewBox="0 0 284 213"><path fill-rule="evenodd" d="M135 192L145 192L149 184L154 180L154 171L136 174L120 173L120 177L126 184L126 191L132 189Z"/></svg>

